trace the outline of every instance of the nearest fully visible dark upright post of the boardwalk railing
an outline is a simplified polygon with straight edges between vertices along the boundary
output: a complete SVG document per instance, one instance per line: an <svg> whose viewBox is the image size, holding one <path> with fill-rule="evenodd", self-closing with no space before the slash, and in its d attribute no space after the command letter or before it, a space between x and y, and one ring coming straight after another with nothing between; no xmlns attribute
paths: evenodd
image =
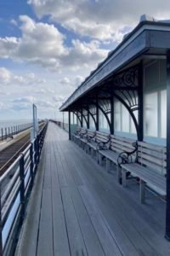
<svg viewBox="0 0 170 256"><path fill-rule="evenodd" d="M20 158L20 224L22 224L25 215L25 170L24 170L24 154Z"/></svg>

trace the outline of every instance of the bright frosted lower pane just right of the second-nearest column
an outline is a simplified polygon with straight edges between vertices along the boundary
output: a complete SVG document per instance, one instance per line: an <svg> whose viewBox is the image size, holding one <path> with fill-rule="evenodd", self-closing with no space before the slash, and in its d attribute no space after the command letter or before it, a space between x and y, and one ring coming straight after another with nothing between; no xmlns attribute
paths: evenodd
<svg viewBox="0 0 170 256"><path fill-rule="evenodd" d="M144 136L157 137L157 92L144 96Z"/></svg>

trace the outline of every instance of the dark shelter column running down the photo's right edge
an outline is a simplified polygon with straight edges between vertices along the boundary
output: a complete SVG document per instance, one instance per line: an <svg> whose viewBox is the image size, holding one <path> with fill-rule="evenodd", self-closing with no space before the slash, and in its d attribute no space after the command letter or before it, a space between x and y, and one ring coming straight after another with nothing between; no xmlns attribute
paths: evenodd
<svg viewBox="0 0 170 256"><path fill-rule="evenodd" d="M167 205L165 237L170 241L170 51L167 53Z"/></svg>

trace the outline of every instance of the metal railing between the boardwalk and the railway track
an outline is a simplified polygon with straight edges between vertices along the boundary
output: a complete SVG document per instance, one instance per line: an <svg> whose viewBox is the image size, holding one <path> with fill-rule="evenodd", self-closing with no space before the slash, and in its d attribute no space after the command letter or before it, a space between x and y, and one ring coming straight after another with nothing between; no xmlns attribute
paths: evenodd
<svg viewBox="0 0 170 256"><path fill-rule="evenodd" d="M26 212L26 201L37 172L48 124L0 177L0 255L13 255L14 243ZM2 191L3 183L10 181Z"/></svg>

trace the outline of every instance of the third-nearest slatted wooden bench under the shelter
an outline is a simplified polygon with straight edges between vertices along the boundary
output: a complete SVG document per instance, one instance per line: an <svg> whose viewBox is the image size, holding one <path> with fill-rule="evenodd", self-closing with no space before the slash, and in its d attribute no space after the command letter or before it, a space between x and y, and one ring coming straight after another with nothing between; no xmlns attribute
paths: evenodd
<svg viewBox="0 0 170 256"><path fill-rule="evenodd" d="M94 156L96 152L99 150L99 148L108 147L108 143L110 143L110 134L96 131L94 137L88 137L87 152L88 154Z"/></svg>

